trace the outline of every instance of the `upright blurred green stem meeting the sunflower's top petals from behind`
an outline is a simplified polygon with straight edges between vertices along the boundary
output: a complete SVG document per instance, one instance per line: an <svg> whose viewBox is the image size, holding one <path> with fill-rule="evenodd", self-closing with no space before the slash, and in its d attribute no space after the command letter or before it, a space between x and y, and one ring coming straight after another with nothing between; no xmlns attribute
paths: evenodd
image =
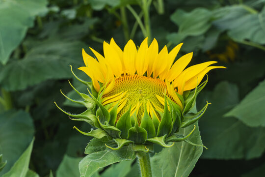
<svg viewBox="0 0 265 177"><path fill-rule="evenodd" d="M150 17L149 17L149 6L152 0L142 0L142 9L144 16L144 25L146 30L146 37L148 37L148 42L151 42L152 34L151 34L151 25L150 25Z"/></svg>

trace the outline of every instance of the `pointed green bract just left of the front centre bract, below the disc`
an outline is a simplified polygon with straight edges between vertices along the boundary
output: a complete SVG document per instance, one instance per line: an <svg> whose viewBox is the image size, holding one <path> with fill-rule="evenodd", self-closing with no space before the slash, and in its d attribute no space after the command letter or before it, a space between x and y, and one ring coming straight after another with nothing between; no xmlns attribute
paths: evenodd
<svg viewBox="0 0 265 177"><path fill-rule="evenodd" d="M131 123L131 107L129 110L124 113L119 120L116 123L116 127L121 130L121 137L123 139L126 139L128 137L128 131L130 128L132 128L132 123Z"/></svg>

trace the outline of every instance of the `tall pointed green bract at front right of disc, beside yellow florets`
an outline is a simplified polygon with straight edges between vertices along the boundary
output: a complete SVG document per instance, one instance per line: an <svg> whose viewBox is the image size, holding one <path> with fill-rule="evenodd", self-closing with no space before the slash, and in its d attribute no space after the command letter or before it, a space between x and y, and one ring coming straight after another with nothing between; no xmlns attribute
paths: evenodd
<svg viewBox="0 0 265 177"><path fill-rule="evenodd" d="M161 118L161 122L159 123L157 137L169 135L171 130L172 130L172 118L168 111L167 99L165 97L164 114Z"/></svg>

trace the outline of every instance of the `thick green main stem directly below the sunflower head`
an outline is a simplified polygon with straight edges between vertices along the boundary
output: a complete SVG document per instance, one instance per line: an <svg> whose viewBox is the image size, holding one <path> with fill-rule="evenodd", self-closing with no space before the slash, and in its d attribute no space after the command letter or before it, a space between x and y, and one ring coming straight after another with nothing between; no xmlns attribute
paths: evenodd
<svg viewBox="0 0 265 177"><path fill-rule="evenodd" d="M138 162L141 170L141 177L152 177L149 153L137 152Z"/></svg>

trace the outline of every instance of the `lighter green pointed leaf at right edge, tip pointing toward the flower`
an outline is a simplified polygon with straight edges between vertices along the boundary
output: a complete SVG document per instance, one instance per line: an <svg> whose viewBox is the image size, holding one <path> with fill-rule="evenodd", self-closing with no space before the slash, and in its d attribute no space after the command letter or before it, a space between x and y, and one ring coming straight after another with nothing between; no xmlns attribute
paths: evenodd
<svg viewBox="0 0 265 177"><path fill-rule="evenodd" d="M253 89L226 117L236 117L249 126L265 126L265 80Z"/></svg>

